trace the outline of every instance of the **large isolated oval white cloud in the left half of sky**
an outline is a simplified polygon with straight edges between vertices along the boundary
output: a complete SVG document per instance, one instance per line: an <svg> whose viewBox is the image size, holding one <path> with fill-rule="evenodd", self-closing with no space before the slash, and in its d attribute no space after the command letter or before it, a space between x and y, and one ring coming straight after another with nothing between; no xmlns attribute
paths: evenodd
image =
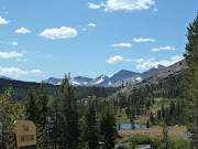
<svg viewBox="0 0 198 149"><path fill-rule="evenodd" d="M77 35L76 29L62 26L59 29L46 29L41 32L38 35L44 36L46 39L56 40L56 39L70 39Z"/></svg>

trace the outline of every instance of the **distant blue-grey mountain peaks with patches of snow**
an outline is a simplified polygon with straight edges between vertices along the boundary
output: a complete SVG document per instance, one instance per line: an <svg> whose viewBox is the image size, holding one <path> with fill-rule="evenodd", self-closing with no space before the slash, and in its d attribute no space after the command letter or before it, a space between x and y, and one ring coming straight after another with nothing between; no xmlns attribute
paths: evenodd
<svg viewBox="0 0 198 149"><path fill-rule="evenodd" d="M72 83L74 86L94 86L95 85L95 86L103 86L103 87L107 87L107 86L118 87L118 86L121 86L122 84L127 84L127 83L134 84L135 82L140 82L141 79L144 79L145 77L163 68L165 68L165 66L157 65L143 73L121 70L118 73L113 74L111 77L107 75L100 75L96 78L76 76L72 78ZM44 83L59 85L62 83L62 79L63 78L50 77L48 79L45 79Z"/></svg>

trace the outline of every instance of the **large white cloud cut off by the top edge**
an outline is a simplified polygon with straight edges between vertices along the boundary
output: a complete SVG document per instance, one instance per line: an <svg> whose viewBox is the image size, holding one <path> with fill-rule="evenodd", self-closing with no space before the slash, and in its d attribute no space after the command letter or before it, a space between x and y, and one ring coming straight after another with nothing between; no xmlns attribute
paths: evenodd
<svg viewBox="0 0 198 149"><path fill-rule="evenodd" d="M154 4L154 0L107 0L105 3L101 3L99 6L89 3L89 8L100 9L102 7L105 8L105 12L117 10L125 10L131 12L133 10L150 9L151 6Z"/></svg>

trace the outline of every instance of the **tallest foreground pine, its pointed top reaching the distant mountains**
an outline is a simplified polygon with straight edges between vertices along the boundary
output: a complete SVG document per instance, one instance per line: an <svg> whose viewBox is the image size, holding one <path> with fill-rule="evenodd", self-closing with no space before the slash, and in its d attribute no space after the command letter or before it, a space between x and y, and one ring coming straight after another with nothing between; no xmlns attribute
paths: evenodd
<svg viewBox="0 0 198 149"><path fill-rule="evenodd" d="M79 113L77 96L70 83L70 75L65 75L59 86L59 98L62 104L62 147L77 149L79 146Z"/></svg>

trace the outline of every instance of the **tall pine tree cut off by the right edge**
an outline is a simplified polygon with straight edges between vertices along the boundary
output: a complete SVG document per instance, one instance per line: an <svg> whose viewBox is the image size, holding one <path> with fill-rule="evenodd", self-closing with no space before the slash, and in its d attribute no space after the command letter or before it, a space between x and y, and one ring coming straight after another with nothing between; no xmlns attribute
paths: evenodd
<svg viewBox="0 0 198 149"><path fill-rule="evenodd" d="M188 70L185 72L185 93L188 116L188 130L194 134L193 148L198 147L198 15L187 28L186 52Z"/></svg>

